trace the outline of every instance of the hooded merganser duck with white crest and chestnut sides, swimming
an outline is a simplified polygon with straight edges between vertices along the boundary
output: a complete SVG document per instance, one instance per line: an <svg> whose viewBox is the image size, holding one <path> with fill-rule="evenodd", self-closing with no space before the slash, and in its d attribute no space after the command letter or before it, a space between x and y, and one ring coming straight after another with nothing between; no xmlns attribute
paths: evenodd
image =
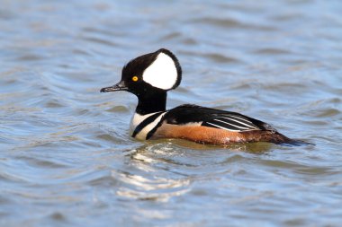
<svg viewBox="0 0 342 227"><path fill-rule="evenodd" d="M191 104L166 110L166 92L175 89L181 79L178 59L161 48L130 60L122 68L121 82L101 92L127 91L138 97L130 127L131 136L140 140L181 138L202 144L293 141L265 122L236 112Z"/></svg>

